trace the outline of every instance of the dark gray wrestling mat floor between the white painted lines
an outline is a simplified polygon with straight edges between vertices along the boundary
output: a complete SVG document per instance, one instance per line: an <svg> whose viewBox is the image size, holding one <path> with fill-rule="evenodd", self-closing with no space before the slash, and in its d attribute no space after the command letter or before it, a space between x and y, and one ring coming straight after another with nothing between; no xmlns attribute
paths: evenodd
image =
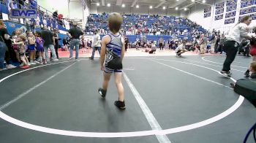
<svg viewBox="0 0 256 143"><path fill-rule="evenodd" d="M207 120L236 103L238 95L233 90L214 83L219 82L229 86L232 82L213 71L222 69L224 59L223 56L206 57L204 58L206 61L201 56L125 58L124 67L135 70L124 70L124 72L162 129L176 128ZM251 58L236 57L232 67L235 69L233 70L235 80L244 77L243 71L246 71L251 60ZM72 63L75 64L65 69ZM113 105L117 100L113 78L106 99L102 100L99 97L97 88L102 83L99 59L58 63L14 75L0 83L0 107L17 96L24 95L22 93L62 69L65 70L26 93L1 112L26 123L68 131L151 130L126 80L123 79L127 105L124 111ZM17 71L20 70L1 71L0 79ZM246 132L256 121L255 112L255 107L245 100L241 107L222 120L189 131L167 134L167 137L173 143L243 142ZM0 141L3 143L159 142L154 135L88 138L47 134L13 125L2 119L0 119ZM248 142L253 142L252 136Z"/></svg>

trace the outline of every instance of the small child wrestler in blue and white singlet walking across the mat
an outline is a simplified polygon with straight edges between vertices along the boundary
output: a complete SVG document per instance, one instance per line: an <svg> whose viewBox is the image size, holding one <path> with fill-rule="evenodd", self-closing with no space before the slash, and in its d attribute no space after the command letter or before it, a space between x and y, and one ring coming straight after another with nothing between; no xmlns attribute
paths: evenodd
<svg viewBox="0 0 256 143"><path fill-rule="evenodd" d="M105 98L108 82L110 80L111 74L114 72L116 88L118 90L118 101L115 101L116 107L119 109L125 109L124 104L124 88L121 83L121 69L111 69L110 63L116 58L124 58L124 38L118 32L123 23L123 18L119 13L111 13L108 17L108 27L110 29L110 34L107 34L102 38L102 49L100 53L100 69L103 71L103 83L102 88L99 88L98 92ZM106 56L106 57L105 57ZM105 64L104 64L105 61ZM120 62L121 62L120 61ZM117 63L116 63L117 64ZM121 64L121 63L119 63Z"/></svg>

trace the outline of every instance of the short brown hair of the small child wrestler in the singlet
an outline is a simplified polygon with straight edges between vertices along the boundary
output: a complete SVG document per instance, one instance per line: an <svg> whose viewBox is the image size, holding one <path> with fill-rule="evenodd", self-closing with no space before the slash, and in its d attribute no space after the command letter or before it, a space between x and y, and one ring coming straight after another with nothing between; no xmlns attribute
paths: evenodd
<svg viewBox="0 0 256 143"><path fill-rule="evenodd" d="M108 26L111 32L114 34L118 33L123 23L123 18L117 12L110 13L108 17Z"/></svg>

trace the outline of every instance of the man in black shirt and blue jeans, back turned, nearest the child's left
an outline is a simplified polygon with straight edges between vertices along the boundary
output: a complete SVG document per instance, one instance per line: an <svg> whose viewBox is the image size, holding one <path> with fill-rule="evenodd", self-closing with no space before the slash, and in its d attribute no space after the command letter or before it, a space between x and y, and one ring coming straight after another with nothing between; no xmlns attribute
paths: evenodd
<svg viewBox="0 0 256 143"><path fill-rule="evenodd" d="M78 59L79 53L79 37L83 35L83 32L78 28L78 23L73 23L73 28L70 28L67 35L70 37L70 48L69 48L69 60L73 59L73 49L75 47L75 60Z"/></svg>

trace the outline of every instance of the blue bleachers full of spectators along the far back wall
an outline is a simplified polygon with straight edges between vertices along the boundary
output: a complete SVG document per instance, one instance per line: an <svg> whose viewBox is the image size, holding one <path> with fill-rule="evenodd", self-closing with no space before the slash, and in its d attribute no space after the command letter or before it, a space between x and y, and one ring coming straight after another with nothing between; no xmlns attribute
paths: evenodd
<svg viewBox="0 0 256 143"><path fill-rule="evenodd" d="M108 26L106 23L106 20L108 18L108 14L103 13L102 15L99 14L91 14L89 15L89 21L87 23L87 28L86 31L91 33L97 29L104 29L105 31L108 31ZM167 34L162 34L162 35L154 35L154 34L146 34L146 37L148 40L158 40L160 37L162 37L164 40L169 40L169 39L184 39L186 37L189 41L192 41L192 27L188 25L190 20L187 18L176 18L173 16L157 16L157 15L123 15L124 22L121 26L121 28L125 31L128 31L129 28L131 27L136 27L136 28L153 28L154 23L159 23L159 26L154 27L157 30L163 29L163 30L171 30L175 33L177 31L184 31L187 30L187 33L182 35L175 35L170 36ZM146 26L140 26L138 25L139 22L144 22L146 21ZM188 22L189 21L189 22ZM131 25L132 23L132 25ZM171 24L169 24L171 23ZM205 32L206 30L202 28L201 26L197 26L197 31L200 32ZM143 33L143 32L142 32ZM103 35L102 35L103 36ZM136 39L140 39L140 34L135 34L135 35L127 35L129 42L136 42Z"/></svg>

